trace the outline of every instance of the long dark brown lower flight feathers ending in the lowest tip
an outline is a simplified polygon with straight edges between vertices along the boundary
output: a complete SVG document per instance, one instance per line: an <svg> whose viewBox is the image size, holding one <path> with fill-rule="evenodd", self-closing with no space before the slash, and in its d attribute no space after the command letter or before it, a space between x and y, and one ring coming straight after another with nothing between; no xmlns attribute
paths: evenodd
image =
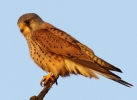
<svg viewBox="0 0 137 100"><path fill-rule="evenodd" d="M104 67L104 66L101 66L100 64L96 64L92 61L86 61L86 60L81 60L81 59L71 59L71 60L73 60L74 62L76 62L78 64L83 65L86 68L91 69L95 73L98 73L98 74L100 74L106 78L109 78L115 82L118 82L122 85L125 85L127 87L133 86L132 84L122 80L119 76L117 76L114 73L112 73L111 71L109 71L109 70L112 70L113 68L114 68L114 70L116 70L117 69L116 67L112 67L112 66L111 67Z"/></svg>

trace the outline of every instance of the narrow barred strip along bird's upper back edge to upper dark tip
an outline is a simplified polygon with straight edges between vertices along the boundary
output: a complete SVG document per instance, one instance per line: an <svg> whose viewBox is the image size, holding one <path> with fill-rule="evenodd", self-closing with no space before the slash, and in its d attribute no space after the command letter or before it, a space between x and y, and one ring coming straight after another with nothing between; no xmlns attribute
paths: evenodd
<svg viewBox="0 0 137 100"><path fill-rule="evenodd" d="M104 61L103 59L97 57L93 50L91 50L90 48L88 48L86 45L80 43L79 41L77 41L75 38L73 38L72 36L70 36L69 34L67 34L66 32L56 28L56 27L52 27L52 28L48 28L48 30L51 33L55 33L54 35L68 41L69 43L73 44L74 46L76 46L77 48L80 48L81 51L85 52L88 56L90 56L90 60L92 60L93 62L95 62L96 64L100 65L101 67L107 69L107 70L112 70L112 71L117 71L117 72L122 72L119 68L109 64L108 62Z"/></svg>

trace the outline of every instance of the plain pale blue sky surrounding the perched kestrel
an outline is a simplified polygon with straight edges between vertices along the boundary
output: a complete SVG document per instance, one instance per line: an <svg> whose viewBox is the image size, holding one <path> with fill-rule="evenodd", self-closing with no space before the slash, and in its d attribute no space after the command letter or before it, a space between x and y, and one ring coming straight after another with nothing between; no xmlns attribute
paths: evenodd
<svg viewBox="0 0 137 100"><path fill-rule="evenodd" d="M29 100L42 90L46 72L30 58L17 26L30 12L89 46L134 85L71 75L60 77L44 100L137 100L137 0L0 0L1 100Z"/></svg>

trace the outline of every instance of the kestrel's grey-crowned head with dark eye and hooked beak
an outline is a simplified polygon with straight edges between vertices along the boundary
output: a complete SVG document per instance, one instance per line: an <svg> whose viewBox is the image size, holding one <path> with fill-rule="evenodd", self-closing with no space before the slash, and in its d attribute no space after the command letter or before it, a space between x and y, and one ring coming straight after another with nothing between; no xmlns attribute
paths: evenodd
<svg viewBox="0 0 137 100"><path fill-rule="evenodd" d="M31 32L37 30L42 23L43 20L35 13L24 14L17 22L21 33L25 37L27 37Z"/></svg>

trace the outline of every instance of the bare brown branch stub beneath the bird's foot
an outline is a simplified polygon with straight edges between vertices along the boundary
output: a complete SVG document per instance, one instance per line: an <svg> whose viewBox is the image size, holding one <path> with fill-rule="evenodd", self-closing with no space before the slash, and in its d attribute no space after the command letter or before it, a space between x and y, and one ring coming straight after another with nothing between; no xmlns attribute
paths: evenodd
<svg viewBox="0 0 137 100"><path fill-rule="evenodd" d="M48 81L47 84L46 84L46 86L44 86L44 88L42 89L42 91L39 93L39 95L38 96L32 96L30 98L30 100L43 100L43 98L48 93L48 91L50 90L50 88L52 87L52 85L50 85L50 81Z"/></svg>

